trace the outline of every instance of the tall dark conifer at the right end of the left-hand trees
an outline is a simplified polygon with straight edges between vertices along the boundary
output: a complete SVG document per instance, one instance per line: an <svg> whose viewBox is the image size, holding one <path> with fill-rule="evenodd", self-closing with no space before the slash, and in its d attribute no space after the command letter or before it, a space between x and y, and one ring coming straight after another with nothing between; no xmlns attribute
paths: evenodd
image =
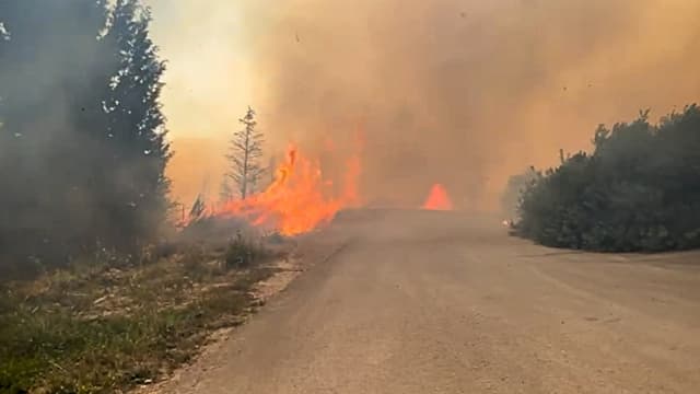
<svg viewBox="0 0 700 394"><path fill-rule="evenodd" d="M171 150L160 103L165 63L150 38L150 10L139 1L118 0L105 37L117 48L119 68L104 100L112 173L105 190L113 193L104 202L110 236L127 246L153 239L170 207Z"/></svg>

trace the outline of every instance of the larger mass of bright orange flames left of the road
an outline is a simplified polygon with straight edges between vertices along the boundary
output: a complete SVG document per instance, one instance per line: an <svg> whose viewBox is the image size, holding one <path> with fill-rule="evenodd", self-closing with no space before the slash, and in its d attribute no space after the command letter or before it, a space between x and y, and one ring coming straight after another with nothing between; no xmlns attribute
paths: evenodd
<svg viewBox="0 0 700 394"><path fill-rule="evenodd" d="M342 189L334 193L334 183L324 179L320 164L290 147L275 181L261 193L244 200L231 200L218 215L247 219L256 227L275 229L284 235L296 235L328 223L336 212L359 202L357 182L360 159L346 163Z"/></svg>

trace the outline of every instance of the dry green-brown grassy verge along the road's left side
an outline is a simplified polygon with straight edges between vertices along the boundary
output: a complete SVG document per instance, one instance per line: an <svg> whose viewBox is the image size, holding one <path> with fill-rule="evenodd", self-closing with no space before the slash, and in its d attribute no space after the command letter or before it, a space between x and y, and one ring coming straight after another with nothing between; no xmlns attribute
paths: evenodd
<svg viewBox="0 0 700 394"><path fill-rule="evenodd" d="M242 240L138 267L77 265L0 285L0 393L115 393L188 362L275 273Z"/></svg>

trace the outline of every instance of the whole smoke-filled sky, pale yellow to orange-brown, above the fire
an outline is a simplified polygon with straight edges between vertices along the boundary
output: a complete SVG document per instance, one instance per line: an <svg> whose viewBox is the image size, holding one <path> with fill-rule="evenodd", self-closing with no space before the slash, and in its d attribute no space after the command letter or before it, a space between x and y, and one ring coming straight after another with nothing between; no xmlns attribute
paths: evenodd
<svg viewBox="0 0 700 394"><path fill-rule="evenodd" d="M455 208L478 209L495 206L509 175L590 149L599 123L700 99L700 1L151 4L170 61L170 175L185 200L218 184L222 142L248 104L269 152L294 140L341 155L362 128L368 201L419 206L440 183Z"/></svg>

